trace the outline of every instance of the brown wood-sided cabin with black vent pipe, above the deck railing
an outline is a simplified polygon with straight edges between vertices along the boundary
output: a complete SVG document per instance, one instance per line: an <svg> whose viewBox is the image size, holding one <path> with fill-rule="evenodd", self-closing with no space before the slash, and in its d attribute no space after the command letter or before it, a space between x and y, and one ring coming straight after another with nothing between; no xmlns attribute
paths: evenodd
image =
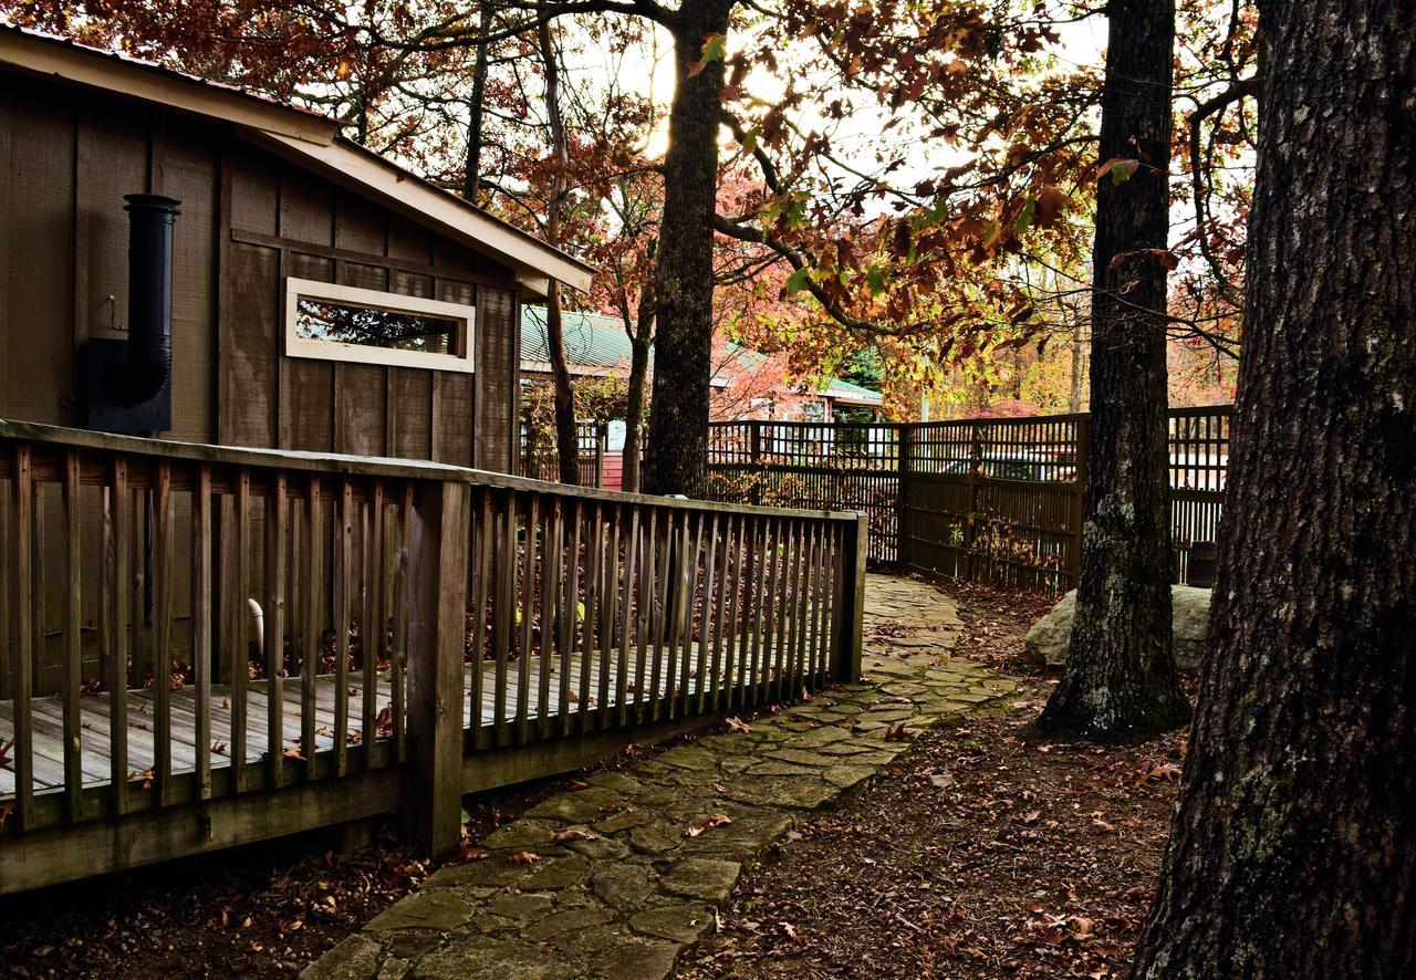
<svg viewBox="0 0 1416 980"><path fill-rule="evenodd" d="M0 418L515 469L589 266L231 86L0 28Z"/></svg>

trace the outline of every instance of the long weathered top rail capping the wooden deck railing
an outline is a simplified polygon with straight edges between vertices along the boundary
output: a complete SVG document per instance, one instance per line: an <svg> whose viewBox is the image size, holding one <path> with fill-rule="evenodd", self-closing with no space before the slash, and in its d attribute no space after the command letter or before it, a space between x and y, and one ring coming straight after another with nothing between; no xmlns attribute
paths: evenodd
<svg viewBox="0 0 1416 980"><path fill-rule="evenodd" d="M579 497L613 504L639 504L647 507L673 507L677 510L716 511L735 514L758 514L763 517L797 517L831 521L854 521L850 511L804 510L794 507L760 507L752 504L728 504L714 500L690 500L680 497L656 497L619 490L575 487L530 477L508 476L450 463L426 460L389 459L382 456L350 456L341 453L314 453L295 449L253 449L239 446L218 446L202 442L178 442L170 439L146 439L89 429L69 429L38 422L0 419L0 440L33 442L57 449L89 449L96 452L118 452L152 459L208 463L211 466L249 466L262 469L295 470L300 473L329 473L331 476L378 476L405 480L462 482L472 486L498 490L520 490L525 493Z"/></svg>

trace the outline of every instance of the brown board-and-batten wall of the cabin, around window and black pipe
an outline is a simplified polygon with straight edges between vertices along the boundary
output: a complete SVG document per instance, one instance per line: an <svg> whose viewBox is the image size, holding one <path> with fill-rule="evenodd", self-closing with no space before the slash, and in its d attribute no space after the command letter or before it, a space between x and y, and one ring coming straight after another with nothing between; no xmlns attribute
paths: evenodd
<svg viewBox="0 0 1416 980"><path fill-rule="evenodd" d="M149 191L183 203L161 435L514 469L506 266L229 127L7 72L0 93L0 418L82 425L82 347L127 319L123 194ZM474 374L285 357L285 276L476 306Z"/></svg>

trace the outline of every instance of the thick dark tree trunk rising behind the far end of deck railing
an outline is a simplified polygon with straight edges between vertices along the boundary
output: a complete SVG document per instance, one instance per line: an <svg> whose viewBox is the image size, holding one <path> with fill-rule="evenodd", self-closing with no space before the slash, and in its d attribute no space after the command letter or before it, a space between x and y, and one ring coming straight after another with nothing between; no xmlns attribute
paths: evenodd
<svg viewBox="0 0 1416 980"><path fill-rule="evenodd" d="M708 381L712 361L712 225L718 191L721 58L704 44L728 31L735 0L697 0L677 14L677 88L664 154L664 212L654 289L654 389L650 402L647 493L702 497L708 490Z"/></svg>

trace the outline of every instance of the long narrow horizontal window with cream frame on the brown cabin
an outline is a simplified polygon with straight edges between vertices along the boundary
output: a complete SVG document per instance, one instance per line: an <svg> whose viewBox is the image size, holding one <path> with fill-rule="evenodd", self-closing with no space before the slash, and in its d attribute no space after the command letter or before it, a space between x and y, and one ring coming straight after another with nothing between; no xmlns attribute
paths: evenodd
<svg viewBox="0 0 1416 980"><path fill-rule="evenodd" d="M472 371L470 306L287 279L285 310L290 357Z"/></svg>

